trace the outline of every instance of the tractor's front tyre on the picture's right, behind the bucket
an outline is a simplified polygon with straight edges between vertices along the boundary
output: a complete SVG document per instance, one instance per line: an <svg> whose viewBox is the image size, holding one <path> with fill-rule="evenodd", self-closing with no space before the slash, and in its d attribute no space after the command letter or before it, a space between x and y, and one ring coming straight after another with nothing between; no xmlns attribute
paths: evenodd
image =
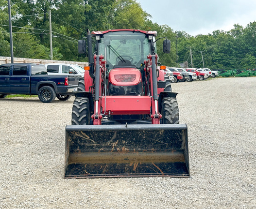
<svg viewBox="0 0 256 209"><path fill-rule="evenodd" d="M162 124L179 124L179 106L176 98L165 97L161 107Z"/></svg>

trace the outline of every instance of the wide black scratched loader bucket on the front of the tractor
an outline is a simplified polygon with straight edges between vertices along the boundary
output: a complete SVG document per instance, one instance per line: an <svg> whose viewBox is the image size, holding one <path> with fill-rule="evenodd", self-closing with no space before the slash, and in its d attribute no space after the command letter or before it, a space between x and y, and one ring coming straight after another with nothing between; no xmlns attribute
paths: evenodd
<svg viewBox="0 0 256 209"><path fill-rule="evenodd" d="M66 126L65 178L189 177L186 124Z"/></svg>

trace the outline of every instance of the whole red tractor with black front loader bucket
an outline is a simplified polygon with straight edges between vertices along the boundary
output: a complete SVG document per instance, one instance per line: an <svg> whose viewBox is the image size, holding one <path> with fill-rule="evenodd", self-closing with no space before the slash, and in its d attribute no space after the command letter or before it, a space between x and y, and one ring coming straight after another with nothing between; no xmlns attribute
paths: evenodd
<svg viewBox="0 0 256 209"><path fill-rule="evenodd" d="M187 125L156 54L156 41L164 53L171 42L156 34L87 30L79 41L89 67L66 127L65 178L189 176Z"/></svg>

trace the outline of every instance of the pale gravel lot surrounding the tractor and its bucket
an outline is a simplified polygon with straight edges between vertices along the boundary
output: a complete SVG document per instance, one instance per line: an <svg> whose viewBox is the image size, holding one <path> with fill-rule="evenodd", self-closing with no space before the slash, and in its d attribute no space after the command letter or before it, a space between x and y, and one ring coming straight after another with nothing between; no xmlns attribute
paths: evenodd
<svg viewBox="0 0 256 209"><path fill-rule="evenodd" d="M0 208L255 209L256 77L172 84L190 178L63 179L74 97L0 100Z"/></svg>

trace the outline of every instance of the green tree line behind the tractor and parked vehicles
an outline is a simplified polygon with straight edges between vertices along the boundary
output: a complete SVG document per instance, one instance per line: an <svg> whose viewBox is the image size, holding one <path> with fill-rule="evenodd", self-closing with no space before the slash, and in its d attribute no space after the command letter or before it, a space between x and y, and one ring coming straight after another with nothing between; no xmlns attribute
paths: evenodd
<svg viewBox="0 0 256 209"><path fill-rule="evenodd" d="M0 56L10 56L7 0L0 0ZM245 28L234 24L229 31L215 30L191 36L158 25L136 0L12 0L14 56L50 59L49 11L51 10L53 60L87 61L77 52L77 41L93 30L155 30L157 37L171 40L171 53L162 53L160 62L210 69L253 69L256 67L256 22ZM178 64L179 65L179 64Z"/></svg>

